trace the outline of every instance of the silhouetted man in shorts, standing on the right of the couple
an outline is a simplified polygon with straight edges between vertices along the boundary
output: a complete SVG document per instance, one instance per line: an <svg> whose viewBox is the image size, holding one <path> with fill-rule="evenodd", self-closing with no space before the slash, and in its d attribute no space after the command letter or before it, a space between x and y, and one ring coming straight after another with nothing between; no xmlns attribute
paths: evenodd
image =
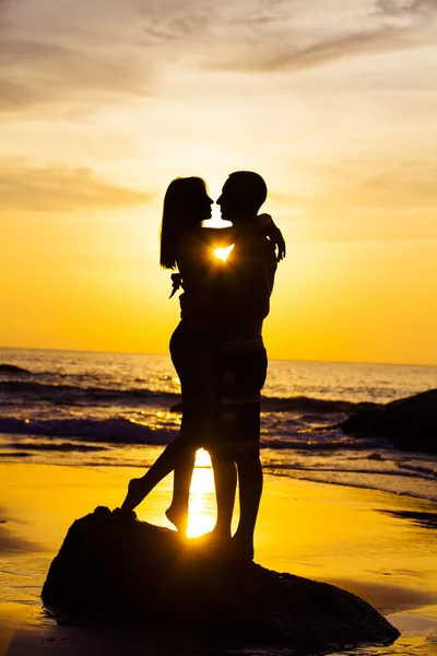
<svg viewBox="0 0 437 656"><path fill-rule="evenodd" d="M229 560L253 558L262 493L260 391L267 375L262 323L270 309L276 257L272 242L252 225L265 198L262 177L241 171L231 174L217 200L224 220L243 229L247 225L223 268L218 291L221 411L216 446L210 449L217 493L217 536L231 535L238 473L240 518L229 543Z"/></svg>

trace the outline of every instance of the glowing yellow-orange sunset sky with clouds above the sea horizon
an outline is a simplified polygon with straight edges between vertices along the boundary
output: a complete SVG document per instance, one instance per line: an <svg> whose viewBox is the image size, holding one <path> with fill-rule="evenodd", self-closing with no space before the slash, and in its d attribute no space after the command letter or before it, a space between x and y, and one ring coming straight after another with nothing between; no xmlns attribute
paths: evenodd
<svg viewBox="0 0 437 656"><path fill-rule="evenodd" d="M437 0L0 0L0 345L166 353L162 199L259 172L271 358L437 364Z"/></svg>

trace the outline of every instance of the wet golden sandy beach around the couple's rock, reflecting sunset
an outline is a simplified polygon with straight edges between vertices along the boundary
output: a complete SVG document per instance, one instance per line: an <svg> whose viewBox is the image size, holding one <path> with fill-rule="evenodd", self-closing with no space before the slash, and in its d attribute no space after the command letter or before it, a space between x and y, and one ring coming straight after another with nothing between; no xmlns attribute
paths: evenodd
<svg viewBox="0 0 437 656"><path fill-rule="evenodd" d="M1 464L0 655L39 653L200 654L196 636L122 628L58 625L40 608L40 588L64 535L98 505L117 507L130 467ZM138 518L170 526L167 477L138 508ZM208 530L215 502L211 469L197 467L191 532ZM434 502L376 490L265 476L256 562L332 583L370 602L402 632L392 646L356 654L437 654L437 539ZM413 515L412 515L413 514ZM414 517L414 520L410 518ZM423 520L421 522L421 518Z"/></svg>

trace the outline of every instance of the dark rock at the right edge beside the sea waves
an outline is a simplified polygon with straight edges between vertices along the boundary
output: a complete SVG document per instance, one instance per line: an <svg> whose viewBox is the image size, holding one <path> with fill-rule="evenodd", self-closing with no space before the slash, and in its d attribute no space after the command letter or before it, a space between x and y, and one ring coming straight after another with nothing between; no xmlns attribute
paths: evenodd
<svg viewBox="0 0 437 656"><path fill-rule="evenodd" d="M380 436L404 450L437 453L437 389L362 410L342 423L357 437Z"/></svg>

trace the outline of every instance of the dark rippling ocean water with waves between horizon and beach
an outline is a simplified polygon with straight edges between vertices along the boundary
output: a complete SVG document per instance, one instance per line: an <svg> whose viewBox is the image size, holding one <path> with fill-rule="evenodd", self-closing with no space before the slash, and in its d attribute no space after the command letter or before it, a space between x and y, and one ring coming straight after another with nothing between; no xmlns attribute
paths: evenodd
<svg viewBox="0 0 437 656"><path fill-rule="evenodd" d="M362 403L436 387L436 366L270 361L263 467L437 501L436 456L339 427ZM0 460L150 466L177 435L179 391L164 355L0 349Z"/></svg>

